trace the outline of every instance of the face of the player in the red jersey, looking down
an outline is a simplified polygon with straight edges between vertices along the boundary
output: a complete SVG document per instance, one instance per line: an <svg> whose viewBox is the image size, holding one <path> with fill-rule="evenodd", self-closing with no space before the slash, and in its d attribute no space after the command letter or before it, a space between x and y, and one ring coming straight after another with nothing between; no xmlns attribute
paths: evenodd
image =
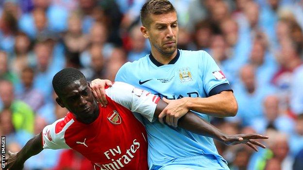
<svg viewBox="0 0 303 170"><path fill-rule="evenodd" d="M60 97L64 107L71 111L79 120L90 120L98 107L88 83L76 80L69 84Z"/></svg>

